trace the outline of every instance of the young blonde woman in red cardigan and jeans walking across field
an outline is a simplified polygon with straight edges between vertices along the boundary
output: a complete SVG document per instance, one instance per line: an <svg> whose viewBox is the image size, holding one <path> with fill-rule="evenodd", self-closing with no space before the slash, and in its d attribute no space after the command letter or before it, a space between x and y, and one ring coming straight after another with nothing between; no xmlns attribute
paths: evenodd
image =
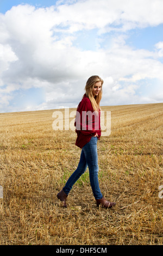
<svg viewBox="0 0 163 256"><path fill-rule="evenodd" d="M90 184L97 206L111 208L116 203L106 200L99 188L98 183L98 156L97 140L101 137L100 106L102 98L103 80L99 76L91 76L85 86L85 94L80 101L75 126L77 132L76 145L82 149L77 169L67 180L64 188L57 194L64 207L67 207L66 199L74 183L84 174L89 167Z"/></svg>

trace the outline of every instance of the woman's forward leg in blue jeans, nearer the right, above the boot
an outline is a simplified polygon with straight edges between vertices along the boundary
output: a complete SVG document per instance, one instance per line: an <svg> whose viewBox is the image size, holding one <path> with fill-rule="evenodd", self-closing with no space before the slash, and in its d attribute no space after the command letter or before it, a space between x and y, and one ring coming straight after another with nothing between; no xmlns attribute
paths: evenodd
<svg viewBox="0 0 163 256"><path fill-rule="evenodd" d="M101 199L103 197L98 183L98 155L97 155L97 137L92 137L83 147L85 160L89 167L90 184L95 199Z"/></svg>

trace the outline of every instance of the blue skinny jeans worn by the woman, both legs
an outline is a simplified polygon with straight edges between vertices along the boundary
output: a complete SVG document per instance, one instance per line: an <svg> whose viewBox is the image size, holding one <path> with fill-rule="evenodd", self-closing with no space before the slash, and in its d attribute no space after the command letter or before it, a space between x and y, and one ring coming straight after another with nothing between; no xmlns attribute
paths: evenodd
<svg viewBox="0 0 163 256"><path fill-rule="evenodd" d="M97 137L92 137L82 148L78 167L67 180L63 190L68 195L75 182L85 173L87 166L89 167L90 184L93 196L95 199L101 199L103 196L98 184Z"/></svg>

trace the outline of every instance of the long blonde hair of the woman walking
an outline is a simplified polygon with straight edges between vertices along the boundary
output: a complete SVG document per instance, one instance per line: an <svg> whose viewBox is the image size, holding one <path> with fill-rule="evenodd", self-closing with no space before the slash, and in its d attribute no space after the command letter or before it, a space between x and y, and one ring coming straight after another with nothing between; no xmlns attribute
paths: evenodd
<svg viewBox="0 0 163 256"><path fill-rule="evenodd" d="M102 99L102 88L97 96L95 95L95 97L93 97L93 94L92 94L95 83L97 83L97 82L101 82L101 85L103 85L104 81L99 76L91 76L86 82L85 94L87 97L89 97L89 99L92 103L93 110L99 112L99 109L101 110L99 103ZM84 97L84 95L83 95L83 97Z"/></svg>

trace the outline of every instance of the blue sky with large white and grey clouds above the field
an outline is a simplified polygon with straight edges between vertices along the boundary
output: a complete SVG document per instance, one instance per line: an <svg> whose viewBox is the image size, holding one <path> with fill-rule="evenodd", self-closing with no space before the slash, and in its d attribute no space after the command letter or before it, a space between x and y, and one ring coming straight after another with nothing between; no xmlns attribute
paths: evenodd
<svg viewBox="0 0 163 256"><path fill-rule="evenodd" d="M163 102L162 0L0 0L0 113Z"/></svg>

